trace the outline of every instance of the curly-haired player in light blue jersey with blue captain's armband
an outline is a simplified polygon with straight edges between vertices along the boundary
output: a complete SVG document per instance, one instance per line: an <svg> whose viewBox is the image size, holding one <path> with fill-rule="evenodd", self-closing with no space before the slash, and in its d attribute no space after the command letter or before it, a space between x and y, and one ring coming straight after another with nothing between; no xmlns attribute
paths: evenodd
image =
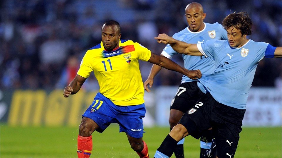
<svg viewBox="0 0 282 158"><path fill-rule="evenodd" d="M205 95L174 126L157 149L156 158L170 157L178 141L187 135L199 139L199 134L211 127L216 140L215 156L233 158L235 155L256 67L264 57L281 58L282 47L247 39L252 22L246 12L229 14L222 25L228 40L188 44L165 34L155 37L181 54L204 55L215 61L214 72L198 81Z"/></svg>

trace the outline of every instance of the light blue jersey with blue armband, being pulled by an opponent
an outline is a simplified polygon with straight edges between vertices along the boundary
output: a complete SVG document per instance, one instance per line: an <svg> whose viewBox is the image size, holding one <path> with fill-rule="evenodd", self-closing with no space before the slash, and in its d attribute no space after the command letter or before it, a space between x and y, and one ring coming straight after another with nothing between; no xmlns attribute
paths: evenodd
<svg viewBox="0 0 282 158"><path fill-rule="evenodd" d="M197 47L215 61L214 73L199 79L200 89L209 91L221 104L246 109L256 67L263 57L274 57L276 47L253 40L240 48L230 47L228 40L209 40Z"/></svg>

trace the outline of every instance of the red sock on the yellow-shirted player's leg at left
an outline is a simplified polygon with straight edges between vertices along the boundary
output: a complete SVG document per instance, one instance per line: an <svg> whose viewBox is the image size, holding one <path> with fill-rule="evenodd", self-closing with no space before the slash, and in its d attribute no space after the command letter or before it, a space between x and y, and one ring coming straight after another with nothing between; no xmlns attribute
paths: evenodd
<svg viewBox="0 0 282 158"><path fill-rule="evenodd" d="M92 152L92 135L90 137L77 137L77 156L78 158L89 158Z"/></svg>

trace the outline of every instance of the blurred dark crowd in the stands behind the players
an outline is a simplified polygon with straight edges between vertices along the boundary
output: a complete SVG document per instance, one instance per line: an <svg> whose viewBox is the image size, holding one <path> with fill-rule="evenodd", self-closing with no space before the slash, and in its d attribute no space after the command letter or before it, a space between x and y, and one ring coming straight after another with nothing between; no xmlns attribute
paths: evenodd
<svg viewBox="0 0 282 158"><path fill-rule="evenodd" d="M139 42L156 54L165 47L154 37L172 36L187 27L184 10L191 0L1 0L0 87L63 89L75 77L85 52L101 42L106 20L121 25L121 39ZM281 46L281 0L198 0L206 23L221 23L234 11L246 11L253 22L250 39ZM181 55L175 62L183 65ZM145 81L152 64L140 61ZM281 60L263 59L253 86L281 89ZM162 69L154 86L179 85L182 75ZM248 80L246 78L246 80ZM97 90L94 74L83 85Z"/></svg>

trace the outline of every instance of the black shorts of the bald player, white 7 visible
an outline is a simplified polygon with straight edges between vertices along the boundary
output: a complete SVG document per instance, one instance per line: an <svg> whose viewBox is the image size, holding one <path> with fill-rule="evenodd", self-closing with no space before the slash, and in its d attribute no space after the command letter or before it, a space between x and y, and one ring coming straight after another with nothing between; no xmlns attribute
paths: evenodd
<svg viewBox="0 0 282 158"><path fill-rule="evenodd" d="M179 88L172 99L170 109L176 109L185 113L191 109L196 102L204 95L197 85L198 81L186 82L179 85Z"/></svg>

